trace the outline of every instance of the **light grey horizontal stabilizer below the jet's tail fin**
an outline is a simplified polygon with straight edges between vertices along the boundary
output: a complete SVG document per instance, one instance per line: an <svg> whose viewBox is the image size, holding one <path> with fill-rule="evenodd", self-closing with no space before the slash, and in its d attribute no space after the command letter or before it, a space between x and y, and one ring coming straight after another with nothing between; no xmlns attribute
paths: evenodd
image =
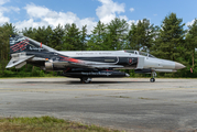
<svg viewBox="0 0 197 132"><path fill-rule="evenodd" d="M31 56L21 56L18 59L12 57L12 59L9 62L9 64L7 65L6 68L11 68L11 67L14 67L14 66L15 66L15 68L21 68L22 66L24 66L26 64L28 59L31 59L33 57L34 57L34 55L31 55Z"/></svg>

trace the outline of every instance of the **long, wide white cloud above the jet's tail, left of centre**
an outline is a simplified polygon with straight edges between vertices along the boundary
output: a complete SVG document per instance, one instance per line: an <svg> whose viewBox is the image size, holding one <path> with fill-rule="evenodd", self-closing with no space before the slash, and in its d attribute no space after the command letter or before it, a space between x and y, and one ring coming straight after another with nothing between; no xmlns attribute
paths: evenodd
<svg viewBox="0 0 197 132"><path fill-rule="evenodd" d="M33 3L28 4L25 8L29 20L20 21L15 23L19 30L24 28L39 28L47 26L56 28L58 24L65 25L66 23L76 23L78 28L87 24L88 33L97 24L92 18L79 19L77 14L73 12L56 12L45 7L35 6Z"/></svg>

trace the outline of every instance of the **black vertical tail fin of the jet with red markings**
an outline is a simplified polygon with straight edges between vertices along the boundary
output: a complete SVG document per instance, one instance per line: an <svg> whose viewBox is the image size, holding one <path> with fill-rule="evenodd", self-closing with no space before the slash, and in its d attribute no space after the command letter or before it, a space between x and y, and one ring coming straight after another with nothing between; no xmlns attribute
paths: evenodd
<svg viewBox="0 0 197 132"><path fill-rule="evenodd" d="M10 35L10 54L21 52L55 52L55 50L26 36Z"/></svg>

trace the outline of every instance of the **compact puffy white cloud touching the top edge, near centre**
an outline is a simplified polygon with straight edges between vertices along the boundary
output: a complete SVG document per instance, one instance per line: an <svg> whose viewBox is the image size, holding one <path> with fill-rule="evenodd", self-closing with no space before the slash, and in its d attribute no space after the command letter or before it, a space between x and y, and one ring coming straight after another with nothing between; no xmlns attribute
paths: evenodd
<svg viewBox="0 0 197 132"><path fill-rule="evenodd" d="M113 20L117 16L116 13L120 14L124 12L124 3L117 3L112 0L98 1L100 1L102 6L96 9L96 14L103 23L109 23L111 20Z"/></svg>

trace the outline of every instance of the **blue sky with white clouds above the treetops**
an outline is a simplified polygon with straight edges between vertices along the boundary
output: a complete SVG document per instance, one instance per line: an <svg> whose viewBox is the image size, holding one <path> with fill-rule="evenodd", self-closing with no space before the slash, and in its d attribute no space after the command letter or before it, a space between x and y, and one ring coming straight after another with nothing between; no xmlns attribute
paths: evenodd
<svg viewBox="0 0 197 132"><path fill-rule="evenodd" d="M90 33L99 20L107 24L120 18L131 24L149 19L161 25L172 12L190 25L197 18L197 0L0 0L0 25L9 22L21 31L76 23L79 29L87 25Z"/></svg>

